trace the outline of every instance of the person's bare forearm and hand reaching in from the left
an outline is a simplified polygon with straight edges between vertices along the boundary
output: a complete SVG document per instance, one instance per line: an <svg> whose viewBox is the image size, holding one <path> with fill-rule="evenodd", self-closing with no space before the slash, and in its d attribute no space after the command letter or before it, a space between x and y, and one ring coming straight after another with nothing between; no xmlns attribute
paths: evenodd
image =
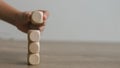
<svg viewBox="0 0 120 68"><path fill-rule="evenodd" d="M48 18L48 11L45 10L39 10L42 11L43 16L43 23L40 25L36 25L36 29L43 31L45 28L46 20ZM12 24L16 26L20 31L27 33L29 28L29 25L31 23L31 12L23 12L20 10L17 10L16 8L10 6L3 0L0 0L0 19L6 21L9 24Z"/></svg>

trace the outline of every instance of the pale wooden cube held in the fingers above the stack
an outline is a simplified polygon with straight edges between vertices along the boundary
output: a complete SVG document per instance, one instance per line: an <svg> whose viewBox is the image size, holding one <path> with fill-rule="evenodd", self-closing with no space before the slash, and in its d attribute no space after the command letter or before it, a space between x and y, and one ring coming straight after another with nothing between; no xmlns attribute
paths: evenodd
<svg viewBox="0 0 120 68"><path fill-rule="evenodd" d="M43 12L42 11L33 11L31 16L32 24L41 24L43 23Z"/></svg>

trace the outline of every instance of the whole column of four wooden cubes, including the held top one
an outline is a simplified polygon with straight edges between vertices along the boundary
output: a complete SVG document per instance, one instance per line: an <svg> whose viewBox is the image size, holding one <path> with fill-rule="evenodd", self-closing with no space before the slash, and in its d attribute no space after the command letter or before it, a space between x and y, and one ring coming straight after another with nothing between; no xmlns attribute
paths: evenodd
<svg viewBox="0 0 120 68"><path fill-rule="evenodd" d="M33 11L31 16L32 25L43 23L43 12ZM31 25L31 27L32 27ZM40 63L40 30L31 28L28 31L28 64L36 65Z"/></svg>

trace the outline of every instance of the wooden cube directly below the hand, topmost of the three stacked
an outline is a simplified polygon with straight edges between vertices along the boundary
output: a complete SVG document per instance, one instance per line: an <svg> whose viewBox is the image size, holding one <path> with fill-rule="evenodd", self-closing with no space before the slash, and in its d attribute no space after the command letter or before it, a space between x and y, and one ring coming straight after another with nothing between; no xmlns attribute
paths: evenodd
<svg viewBox="0 0 120 68"><path fill-rule="evenodd" d="M40 41L40 31L39 30L29 30L28 31L28 40L33 42Z"/></svg>

